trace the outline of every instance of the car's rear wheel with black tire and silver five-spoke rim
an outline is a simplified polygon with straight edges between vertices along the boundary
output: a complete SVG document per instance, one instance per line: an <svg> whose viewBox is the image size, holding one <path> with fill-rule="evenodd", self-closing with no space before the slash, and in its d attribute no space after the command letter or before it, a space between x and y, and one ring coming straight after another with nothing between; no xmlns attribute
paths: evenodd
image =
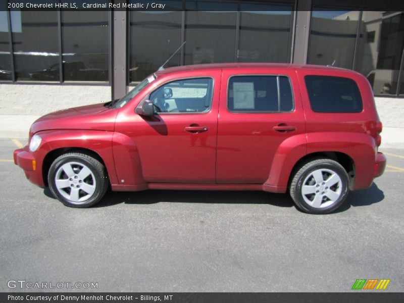
<svg viewBox="0 0 404 303"><path fill-rule="evenodd" d="M330 186L334 181L336 183ZM348 174L336 161L312 160L294 174L289 191L300 210L309 214L328 214L344 203L349 192Z"/></svg>

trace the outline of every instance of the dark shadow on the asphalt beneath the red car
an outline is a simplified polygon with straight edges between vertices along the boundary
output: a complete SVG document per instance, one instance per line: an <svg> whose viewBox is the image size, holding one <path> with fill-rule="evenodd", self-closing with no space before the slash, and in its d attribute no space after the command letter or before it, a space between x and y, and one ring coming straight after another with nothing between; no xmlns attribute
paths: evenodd
<svg viewBox="0 0 404 303"><path fill-rule="evenodd" d="M43 193L55 198L45 187ZM344 212L352 207L368 206L384 199L384 193L375 183L370 188L352 191L345 203L334 213ZM95 206L108 207L117 204L156 204L174 203L212 203L212 204L269 204L278 207L293 207L289 194L264 191L218 191L218 190L144 190L138 192L111 191Z"/></svg>

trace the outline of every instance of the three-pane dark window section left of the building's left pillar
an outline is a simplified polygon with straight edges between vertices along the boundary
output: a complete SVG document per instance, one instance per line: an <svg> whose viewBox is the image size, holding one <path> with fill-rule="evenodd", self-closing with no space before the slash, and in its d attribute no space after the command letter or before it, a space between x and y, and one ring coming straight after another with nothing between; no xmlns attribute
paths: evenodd
<svg viewBox="0 0 404 303"><path fill-rule="evenodd" d="M0 81L109 82L109 15L0 11Z"/></svg>

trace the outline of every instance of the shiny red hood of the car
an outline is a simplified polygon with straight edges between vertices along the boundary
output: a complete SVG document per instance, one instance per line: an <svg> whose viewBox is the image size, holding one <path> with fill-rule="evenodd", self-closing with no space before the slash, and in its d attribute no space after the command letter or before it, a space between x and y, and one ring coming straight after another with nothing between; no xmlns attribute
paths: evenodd
<svg viewBox="0 0 404 303"><path fill-rule="evenodd" d="M117 109L109 109L104 104L81 106L57 111L36 120L30 128L30 137L43 130L51 129L92 129L114 131Z"/></svg>

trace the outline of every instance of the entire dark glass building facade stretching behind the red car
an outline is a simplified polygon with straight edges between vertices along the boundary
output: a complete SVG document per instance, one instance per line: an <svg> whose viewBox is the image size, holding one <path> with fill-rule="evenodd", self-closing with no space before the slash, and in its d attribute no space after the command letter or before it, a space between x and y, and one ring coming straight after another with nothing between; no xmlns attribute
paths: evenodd
<svg viewBox="0 0 404 303"><path fill-rule="evenodd" d="M404 12L350 11L312 0L312 10L301 23L297 15L307 12L299 11L294 0L167 3L164 11L118 12L124 32L114 29L115 12L0 7L0 81L89 82L127 89L155 72L186 41L167 67L222 62L332 65L363 74L376 95L404 95ZM115 45L119 35L124 35L124 45ZM305 46L297 45L298 40ZM118 57L125 62L119 71ZM124 81L116 80L118 72L124 73Z"/></svg>

